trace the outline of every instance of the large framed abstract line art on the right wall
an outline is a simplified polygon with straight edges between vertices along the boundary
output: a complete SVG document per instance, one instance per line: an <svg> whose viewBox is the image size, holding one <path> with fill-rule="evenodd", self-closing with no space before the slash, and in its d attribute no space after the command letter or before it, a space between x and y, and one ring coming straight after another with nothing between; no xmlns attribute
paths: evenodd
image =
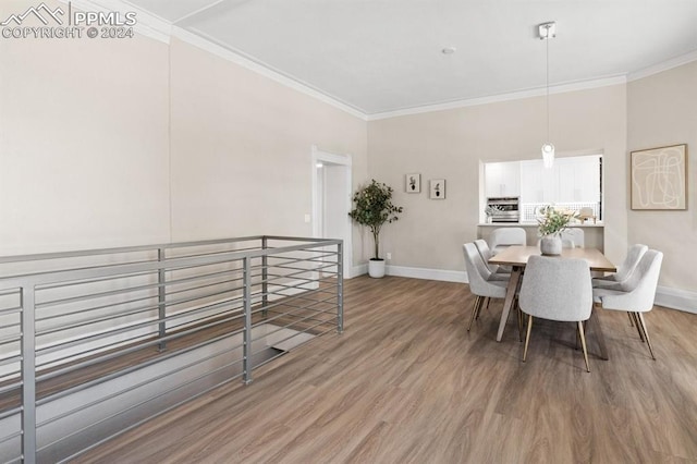
<svg viewBox="0 0 697 464"><path fill-rule="evenodd" d="M687 145L631 152L632 209L687 209Z"/></svg>

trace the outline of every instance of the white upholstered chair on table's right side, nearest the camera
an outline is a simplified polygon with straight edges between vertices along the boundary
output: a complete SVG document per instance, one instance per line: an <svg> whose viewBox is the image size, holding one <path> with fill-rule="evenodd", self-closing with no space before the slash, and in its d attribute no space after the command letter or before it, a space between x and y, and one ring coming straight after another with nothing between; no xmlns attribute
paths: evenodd
<svg viewBox="0 0 697 464"><path fill-rule="evenodd" d="M658 278L661 273L663 254L656 249L644 253L639 264L632 274L617 288L594 289L592 295L596 303L600 303L603 309L628 312L636 323L641 341L646 341L651 357L656 359L653 346L646 329L644 313L653 309Z"/></svg>

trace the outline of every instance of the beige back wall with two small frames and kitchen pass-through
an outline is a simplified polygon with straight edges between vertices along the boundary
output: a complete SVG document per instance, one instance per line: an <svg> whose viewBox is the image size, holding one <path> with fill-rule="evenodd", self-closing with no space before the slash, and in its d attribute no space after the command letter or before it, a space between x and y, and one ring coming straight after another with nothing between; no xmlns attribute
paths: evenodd
<svg viewBox="0 0 697 464"><path fill-rule="evenodd" d="M626 249L626 88L552 95L551 139L558 157L602 152L606 253ZM543 98L391 118L368 123L369 171L392 185L402 219L383 229L394 266L464 271L462 244L477 236L479 162L539 157ZM404 174L421 173L421 193L404 192ZM447 199L428 199L428 181L445 179ZM366 256L366 252L364 252Z"/></svg>

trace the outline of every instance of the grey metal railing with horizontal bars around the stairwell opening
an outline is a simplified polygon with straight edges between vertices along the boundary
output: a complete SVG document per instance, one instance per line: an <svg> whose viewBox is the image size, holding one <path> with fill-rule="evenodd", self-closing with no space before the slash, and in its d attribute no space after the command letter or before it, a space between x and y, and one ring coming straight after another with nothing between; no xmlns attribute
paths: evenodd
<svg viewBox="0 0 697 464"><path fill-rule="evenodd" d="M0 461L70 459L341 333L342 264L279 235L0 257Z"/></svg>

